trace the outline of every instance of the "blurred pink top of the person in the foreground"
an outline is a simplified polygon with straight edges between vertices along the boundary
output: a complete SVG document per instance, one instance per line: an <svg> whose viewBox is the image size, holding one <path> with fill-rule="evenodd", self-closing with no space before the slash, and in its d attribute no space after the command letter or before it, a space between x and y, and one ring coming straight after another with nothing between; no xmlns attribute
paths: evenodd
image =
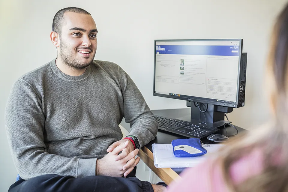
<svg viewBox="0 0 288 192"><path fill-rule="evenodd" d="M263 169L261 150L255 149L230 167L230 177L234 184L240 184L251 176L260 174ZM187 168L180 175L181 179L173 182L167 192L201 191L228 192L220 165L209 159L195 168Z"/></svg>

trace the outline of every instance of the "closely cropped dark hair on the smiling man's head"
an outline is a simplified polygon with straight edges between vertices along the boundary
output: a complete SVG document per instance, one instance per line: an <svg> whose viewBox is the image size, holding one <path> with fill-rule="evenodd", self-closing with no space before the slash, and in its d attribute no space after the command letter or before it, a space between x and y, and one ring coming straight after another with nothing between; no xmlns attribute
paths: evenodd
<svg viewBox="0 0 288 192"><path fill-rule="evenodd" d="M64 9L59 10L53 19L53 23L52 23L52 31L60 34L61 33L61 28L63 26L63 18L64 18L64 13L66 12L74 12L74 13L82 13L82 14L87 14L87 15L91 15L90 13L88 13L87 11L85 11L84 9L78 8L78 7L67 7Z"/></svg>

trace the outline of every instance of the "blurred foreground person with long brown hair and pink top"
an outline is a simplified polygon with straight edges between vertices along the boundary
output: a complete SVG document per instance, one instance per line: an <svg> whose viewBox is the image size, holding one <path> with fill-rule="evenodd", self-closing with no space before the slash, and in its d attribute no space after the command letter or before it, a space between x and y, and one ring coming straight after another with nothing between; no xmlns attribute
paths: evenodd
<svg viewBox="0 0 288 192"><path fill-rule="evenodd" d="M231 140L198 167L187 168L167 192L288 191L288 5L274 26L265 78L274 122Z"/></svg>

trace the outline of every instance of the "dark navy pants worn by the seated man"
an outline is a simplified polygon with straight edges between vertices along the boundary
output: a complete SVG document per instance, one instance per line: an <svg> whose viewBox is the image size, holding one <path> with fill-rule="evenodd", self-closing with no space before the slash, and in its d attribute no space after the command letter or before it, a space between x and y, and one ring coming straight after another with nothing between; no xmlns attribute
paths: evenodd
<svg viewBox="0 0 288 192"><path fill-rule="evenodd" d="M19 181L12 184L8 192L39 192L39 191L119 191L119 192L136 192L147 191L153 192L152 185L146 181L140 181L135 177L136 167L127 176L123 177L108 177L108 176L88 176L82 178L74 178L72 176L59 175L43 175L34 177L28 180L19 179Z"/></svg>

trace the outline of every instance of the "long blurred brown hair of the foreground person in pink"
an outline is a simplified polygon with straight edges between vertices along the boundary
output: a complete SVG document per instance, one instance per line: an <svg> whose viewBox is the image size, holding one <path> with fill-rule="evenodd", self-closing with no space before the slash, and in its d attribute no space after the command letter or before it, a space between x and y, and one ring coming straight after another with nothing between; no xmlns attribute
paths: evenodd
<svg viewBox="0 0 288 192"><path fill-rule="evenodd" d="M277 17L271 36L267 61L268 85L274 122L238 137L220 152L220 163L230 191L288 191L288 5ZM262 173L235 185L230 179L233 162L261 149L264 162ZM274 160L279 159L279 164Z"/></svg>

